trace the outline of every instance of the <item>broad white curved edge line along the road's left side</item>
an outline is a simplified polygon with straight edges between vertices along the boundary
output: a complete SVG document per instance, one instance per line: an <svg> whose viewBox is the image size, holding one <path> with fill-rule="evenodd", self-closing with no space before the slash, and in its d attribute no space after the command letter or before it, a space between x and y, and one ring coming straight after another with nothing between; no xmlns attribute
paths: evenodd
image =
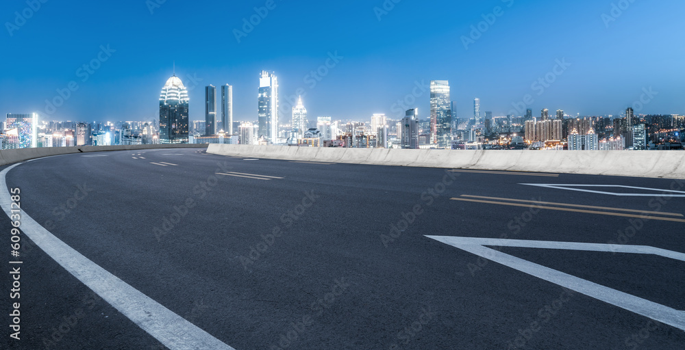
<svg viewBox="0 0 685 350"><path fill-rule="evenodd" d="M12 214L12 201L6 176L17 165L20 164L0 172L0 206L8 216ZM23 210L21 232L66 271L169 349L235 350L69 247Z"/></svg>

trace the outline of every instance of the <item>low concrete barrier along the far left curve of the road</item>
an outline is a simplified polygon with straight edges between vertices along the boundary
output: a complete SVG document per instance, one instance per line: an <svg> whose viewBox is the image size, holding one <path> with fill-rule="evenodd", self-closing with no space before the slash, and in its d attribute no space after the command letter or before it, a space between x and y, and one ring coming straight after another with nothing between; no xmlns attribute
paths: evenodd
<svg viewBox="0 0 685 350"><path fill-rule="evenodd" d="M151 150L155 148L206 148L206 144L177 144L177 145L132 145L132 146L77 146L77 147L42 147L21 148L16 150L0 150L0 165L28 161L42 157L58 156L61 154L103 152L112 150Z"/></svg>

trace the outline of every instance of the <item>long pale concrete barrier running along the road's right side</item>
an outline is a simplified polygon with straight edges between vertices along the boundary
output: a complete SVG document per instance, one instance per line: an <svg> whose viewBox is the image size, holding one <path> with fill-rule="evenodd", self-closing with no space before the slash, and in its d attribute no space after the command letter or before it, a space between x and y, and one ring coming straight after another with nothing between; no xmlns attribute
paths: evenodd
<svg viewBox="0 0 685 350"><path fill-rule="evenodd" d="M210 144L207 152L295 161L685 178L685 152L677 150L398 150Z"/></svg>

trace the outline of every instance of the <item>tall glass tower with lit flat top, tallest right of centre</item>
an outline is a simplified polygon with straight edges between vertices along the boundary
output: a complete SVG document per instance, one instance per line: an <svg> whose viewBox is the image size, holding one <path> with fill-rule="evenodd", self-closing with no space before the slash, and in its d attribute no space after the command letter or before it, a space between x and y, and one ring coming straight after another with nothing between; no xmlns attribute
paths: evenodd
<svg viewBox="0 0 685 350"><path fill-rule="evenodd" d="M452 146L452 106L449 99L449 82L430 82L431 138L438 148Z"/></svg>

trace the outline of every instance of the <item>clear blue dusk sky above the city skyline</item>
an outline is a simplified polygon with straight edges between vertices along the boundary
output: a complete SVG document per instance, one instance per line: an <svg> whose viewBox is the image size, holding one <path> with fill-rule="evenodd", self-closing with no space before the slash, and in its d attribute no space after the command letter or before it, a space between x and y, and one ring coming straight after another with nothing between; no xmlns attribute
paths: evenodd
<svg viewBox="0 0 685 350"><path fill-rule="evenodd" d="M658 94L636 113L685 113L682 0L636 0L608 28L602 14L611 16L612 1L401 0L379 21L374 8L384 0L275 0L276 8L240 43L234 29L242 30L243 18L266 0L166 0L151 13L149 3L156 1L164 2L47 1L11 36L6 23L15 23L14 12L27 3L3 2L2 112L38 111L45 120L152 120L175 61L186 86L195 85L188 76L201 79L190 91L191 120L204 118L203 87L225 83L234 85L234 120L257 120L262 69L279 78L282 105L298 88L306 92L310 120L399 117L398 100L412 92L418 96L407 107L419 107L427 118L429 93L413 89L431 79L449 80L459 118L473 116L475 97L482 111L501 116L526 94L534 98L527 106L534 116L543 108L617 114L649 87ZM503 14L464 49L462 36L495 6ZM101 45L116 52L84 82L77 70ZM312 87L308 74L336 51L344 58ZM538 96L532 83L564 58L571 66ZM47 114L45 100L70 81L78 90ZM281 118L290 120L289 109Z"/></svg>

